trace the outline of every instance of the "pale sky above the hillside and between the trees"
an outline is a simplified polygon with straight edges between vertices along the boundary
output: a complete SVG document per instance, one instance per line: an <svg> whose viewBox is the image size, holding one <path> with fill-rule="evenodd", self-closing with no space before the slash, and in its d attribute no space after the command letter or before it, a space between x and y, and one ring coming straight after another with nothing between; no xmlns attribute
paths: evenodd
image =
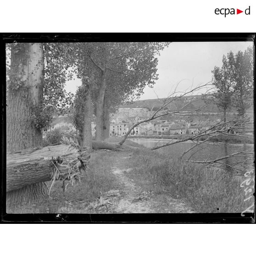
<svg viewBox="0 0 256 256"><path fill-rule="evenodd" d="M161 51L158 57L157 73L159 79L154 88L148 86L138 100L165 98L176 86L184 91L199 84L211 81L211 71L215 66L222 66L223 55L232 50L244 51L252 42L173 42ZM75 94L81 85L79 79L68 81L66 90Z"/></svg>

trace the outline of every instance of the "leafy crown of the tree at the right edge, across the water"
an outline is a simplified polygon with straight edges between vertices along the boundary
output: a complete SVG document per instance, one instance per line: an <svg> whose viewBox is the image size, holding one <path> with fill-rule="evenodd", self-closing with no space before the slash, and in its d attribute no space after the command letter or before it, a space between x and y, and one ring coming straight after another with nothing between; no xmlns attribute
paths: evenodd
<svg viewBox="0 0 256 256"><path fill-rule="evenodd" d="M253 49L248 47L236 55L230 51L223 56L223 66L214 67L213 84L217 91L214 93L215 103L227 111L235 107L240 116L250 107L248 98L253 93Z"/></svg>

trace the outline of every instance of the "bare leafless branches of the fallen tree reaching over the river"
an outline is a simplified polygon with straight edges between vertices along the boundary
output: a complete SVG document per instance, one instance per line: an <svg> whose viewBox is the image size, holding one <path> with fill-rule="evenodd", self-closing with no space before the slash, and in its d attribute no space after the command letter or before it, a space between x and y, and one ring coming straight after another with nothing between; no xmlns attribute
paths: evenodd
<svg viewBox="0 0 256 256"><path fill-rule="evenodd" d="M214 115L220 115L220 113L212 113L212 112L206 112L205 109L206 107L210 106L210 105L214 105L213 102L210 103L206 103L204 106L201 106L195 110L191 110L191 111L184 111L184 109L186 107L188 107L189 105L191 105L192 103L195 103L196 101L199 101L202 99L203 95L196 95L194 99L190 100L189 102L186 102L183 106L180 106L179 109L178 107L174 107L176 108L171 110L171 108L169 107L168 109L166 109L167 106L170 106L172 102L174 102L175 100L178 100L180 98L182 98L185 95L189 95L189 93L195 92L195 91L199 91L201 88L204 88L205 86L210 85L209 83L204 84L204 85L199 85L198 87L194 88L194 89L190 89L190 91L187 92L183 92L181 95L177 95L178 92L176 91L177 86L174 90L174 92L170 95L168 95L168 97L166 99L163 100L161 106L154 111L153 114L151 114L151 116L149 118L146 118L145 120L140 120L138 122L136 122L135 124L132 125L132 127L129 128L128 132L124 135L124 137L122 138L122 141L119 143L120 145L122 145L124 143L124 141L127 139L128 135L131 133L131 131L138 125L140 125L143 122L149 122L151 120L154 120L156 118L159 117L163 117L169 114L172 115L179 115L179 116L194 116L194 115L204 115L204 116L214 116ZM159 99L160 100L160 99ZM152 109L153 110L153 109ZM152 111L151 110L151 111ZM211 139L213 137L217 137L219 135L223 135L223 136L232 136L232 134L228 134L230 128L237 128L237 125L241 125L242 123L247 122L246 120L232 120L232 121L219 121L217 123L215 123L215 125L208 127L208 128L204 128L202 130L199 131L199 133L197 134L192 134L189 137L183 138L183 139L178 139L178 140L170 140L165 144L162 145L158 145L158 143L151 148L151 150L156 150L162 147L166 147L169 145L174 145L180 142L185 142L185 141L192 141L195 143L195 145L191 146L189 149L187 149L186 151L183 152L183 154L180 157L183 157L185 154L187 154L189 151L195 149L197 146L199 145L205 145L206 147L200 148L199 150L196 150L191 156L195 155L196 152L200 151L200 150L205 150L207 147L209 147L210 145L212 145L212 143L214 145L220 145L220 142L211 142ZM202 136L207 136L206 139L203 139L202 141L199 141L200 137ZM238 135L241 138L246 138L249 139L248 136L241 136ZM252 139L252 138L250 138ZM211 143L210 143L211 142ZM252 150L247 150L247 151L241 151L241 152L235 152L231 155L228 156L223 156L220 158L217 158L215 160L208 160L208 158L204 161L195 161L195 160L190 160L191 156L189 157L189 160L187 161L191 161L191 162L195 162L195 163L203 163L203 164L213 164L213 163L217 163L217 164L225 164L222 163L221 160L226 159L226 158L237 158L237 157L243 157L244 154L246 155L250 155L253 154ZM247 159L248 160L248 159ZM238 161L236 161L238 162ZM236 169L239 169L239 167L236 167L235 164L230 165L230 167L234 167Z"/></svg>

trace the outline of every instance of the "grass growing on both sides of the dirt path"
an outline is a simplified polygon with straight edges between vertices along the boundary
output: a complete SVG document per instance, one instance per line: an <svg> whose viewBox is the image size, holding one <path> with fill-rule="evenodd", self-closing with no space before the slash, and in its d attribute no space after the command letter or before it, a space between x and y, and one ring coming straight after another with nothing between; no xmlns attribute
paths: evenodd
<svg viewBox="0 0 256 256"><path fill-rule="evenodd" d="M107 139L108 142L118 142L118 140L120 139ZM127 178L133 180L141 192L152 192L157 196L157 200L159 198L164 200L167 197L181 199L194 212L241 212L250 204L244 201L244 191L240 188L240 181L234 179L231 173L206 165L167 158L129 139L124 145L137 149L126 148L117 152L93 150L91 164L81 184L68 186L63 192L62 182L57 181L51 189L48 200L17 208L15 212L88 213L84 212L84 209L100 195L112 190L122 191L123 184L118 182L111 168L115 161L119 161L122 165L120 156L121 154L123 156L123 153L131 156L125 163L126 168L130 169L125 173ZM50 184L51 182L47 182L48 187Z"/></svg>

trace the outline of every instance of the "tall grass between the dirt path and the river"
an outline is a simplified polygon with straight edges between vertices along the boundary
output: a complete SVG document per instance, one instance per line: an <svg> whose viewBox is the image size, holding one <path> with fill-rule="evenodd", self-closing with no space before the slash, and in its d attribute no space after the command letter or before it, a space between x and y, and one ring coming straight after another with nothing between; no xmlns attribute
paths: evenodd
<svg viewBox="0 0 256 256"><path fill-rule="evenodd" d="M184 199L196 212L242 212L252 200L230 173L178 159L166 159L148 149L137 150L128 173L137 185L155 195ZM252 193L251 193L252 194Z"/></svg>

